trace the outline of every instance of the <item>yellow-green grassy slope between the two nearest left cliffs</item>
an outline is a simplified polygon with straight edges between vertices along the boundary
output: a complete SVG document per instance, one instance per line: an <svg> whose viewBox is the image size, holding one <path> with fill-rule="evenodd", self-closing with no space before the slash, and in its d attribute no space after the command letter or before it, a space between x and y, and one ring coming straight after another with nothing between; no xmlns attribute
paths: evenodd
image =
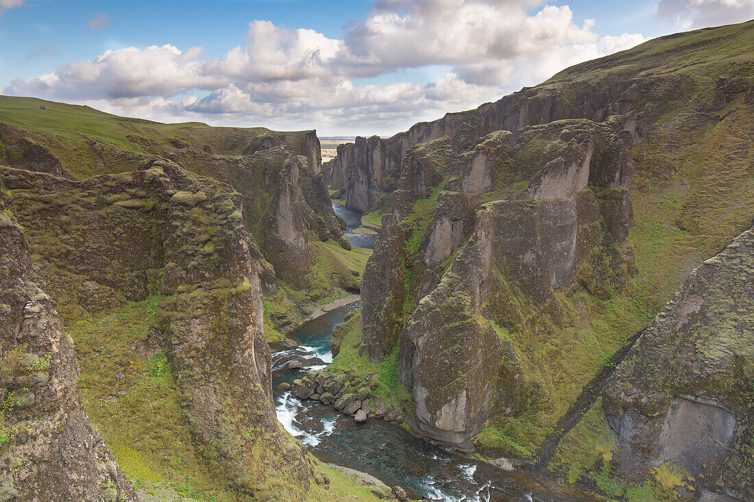
<svg viewBox="0 0 754 502"><path fill-rule="evenodd" d="M170 363L149 345L161 301L127 302L66 324L81 368L84 408L131 479L166 483L198 500L234 500L197 458Z"/></svg>

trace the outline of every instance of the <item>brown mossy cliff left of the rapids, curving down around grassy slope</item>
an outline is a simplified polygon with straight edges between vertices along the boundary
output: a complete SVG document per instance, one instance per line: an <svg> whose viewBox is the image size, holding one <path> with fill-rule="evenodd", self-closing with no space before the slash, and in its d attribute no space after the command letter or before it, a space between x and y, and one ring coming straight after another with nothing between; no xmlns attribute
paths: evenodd
<svg viewBox="0 0 754 502"><path fill-rule="evenodd" d="M241 194L170 161L142 169L81 182L9 168L0 176L41 276L72 317L155 298L139 346L167 355L183 427L217 481L236 494L298 500L310 467L274 415L263 267ZM280 488L280 476L290 485Z"/></svg>

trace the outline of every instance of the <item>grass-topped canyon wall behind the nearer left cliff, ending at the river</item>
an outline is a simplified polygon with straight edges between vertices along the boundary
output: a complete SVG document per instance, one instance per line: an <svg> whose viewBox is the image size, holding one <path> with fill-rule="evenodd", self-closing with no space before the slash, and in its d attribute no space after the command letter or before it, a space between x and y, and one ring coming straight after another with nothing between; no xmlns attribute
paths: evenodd
<svg viewBox="0 0 754 502"><path fill-rule="evenodd" d="M10 96L0 96L0 112L0 163L11 167L83 179L167 159L231 184L244 198L252 253L262 263L271 341L317 304L359 289L315 131L160 124Z"/></svg>

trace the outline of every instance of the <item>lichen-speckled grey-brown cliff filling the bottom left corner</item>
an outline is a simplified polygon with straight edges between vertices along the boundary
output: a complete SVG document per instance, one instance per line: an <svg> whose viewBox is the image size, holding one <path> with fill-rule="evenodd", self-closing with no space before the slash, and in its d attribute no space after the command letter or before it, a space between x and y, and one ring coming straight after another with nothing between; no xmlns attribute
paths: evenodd
<svg viewBox="0 0 754 502"><path fill-rule="evenodd" d="M0 497L136 500L81 405L73 342L0 182Z"/></svg>

